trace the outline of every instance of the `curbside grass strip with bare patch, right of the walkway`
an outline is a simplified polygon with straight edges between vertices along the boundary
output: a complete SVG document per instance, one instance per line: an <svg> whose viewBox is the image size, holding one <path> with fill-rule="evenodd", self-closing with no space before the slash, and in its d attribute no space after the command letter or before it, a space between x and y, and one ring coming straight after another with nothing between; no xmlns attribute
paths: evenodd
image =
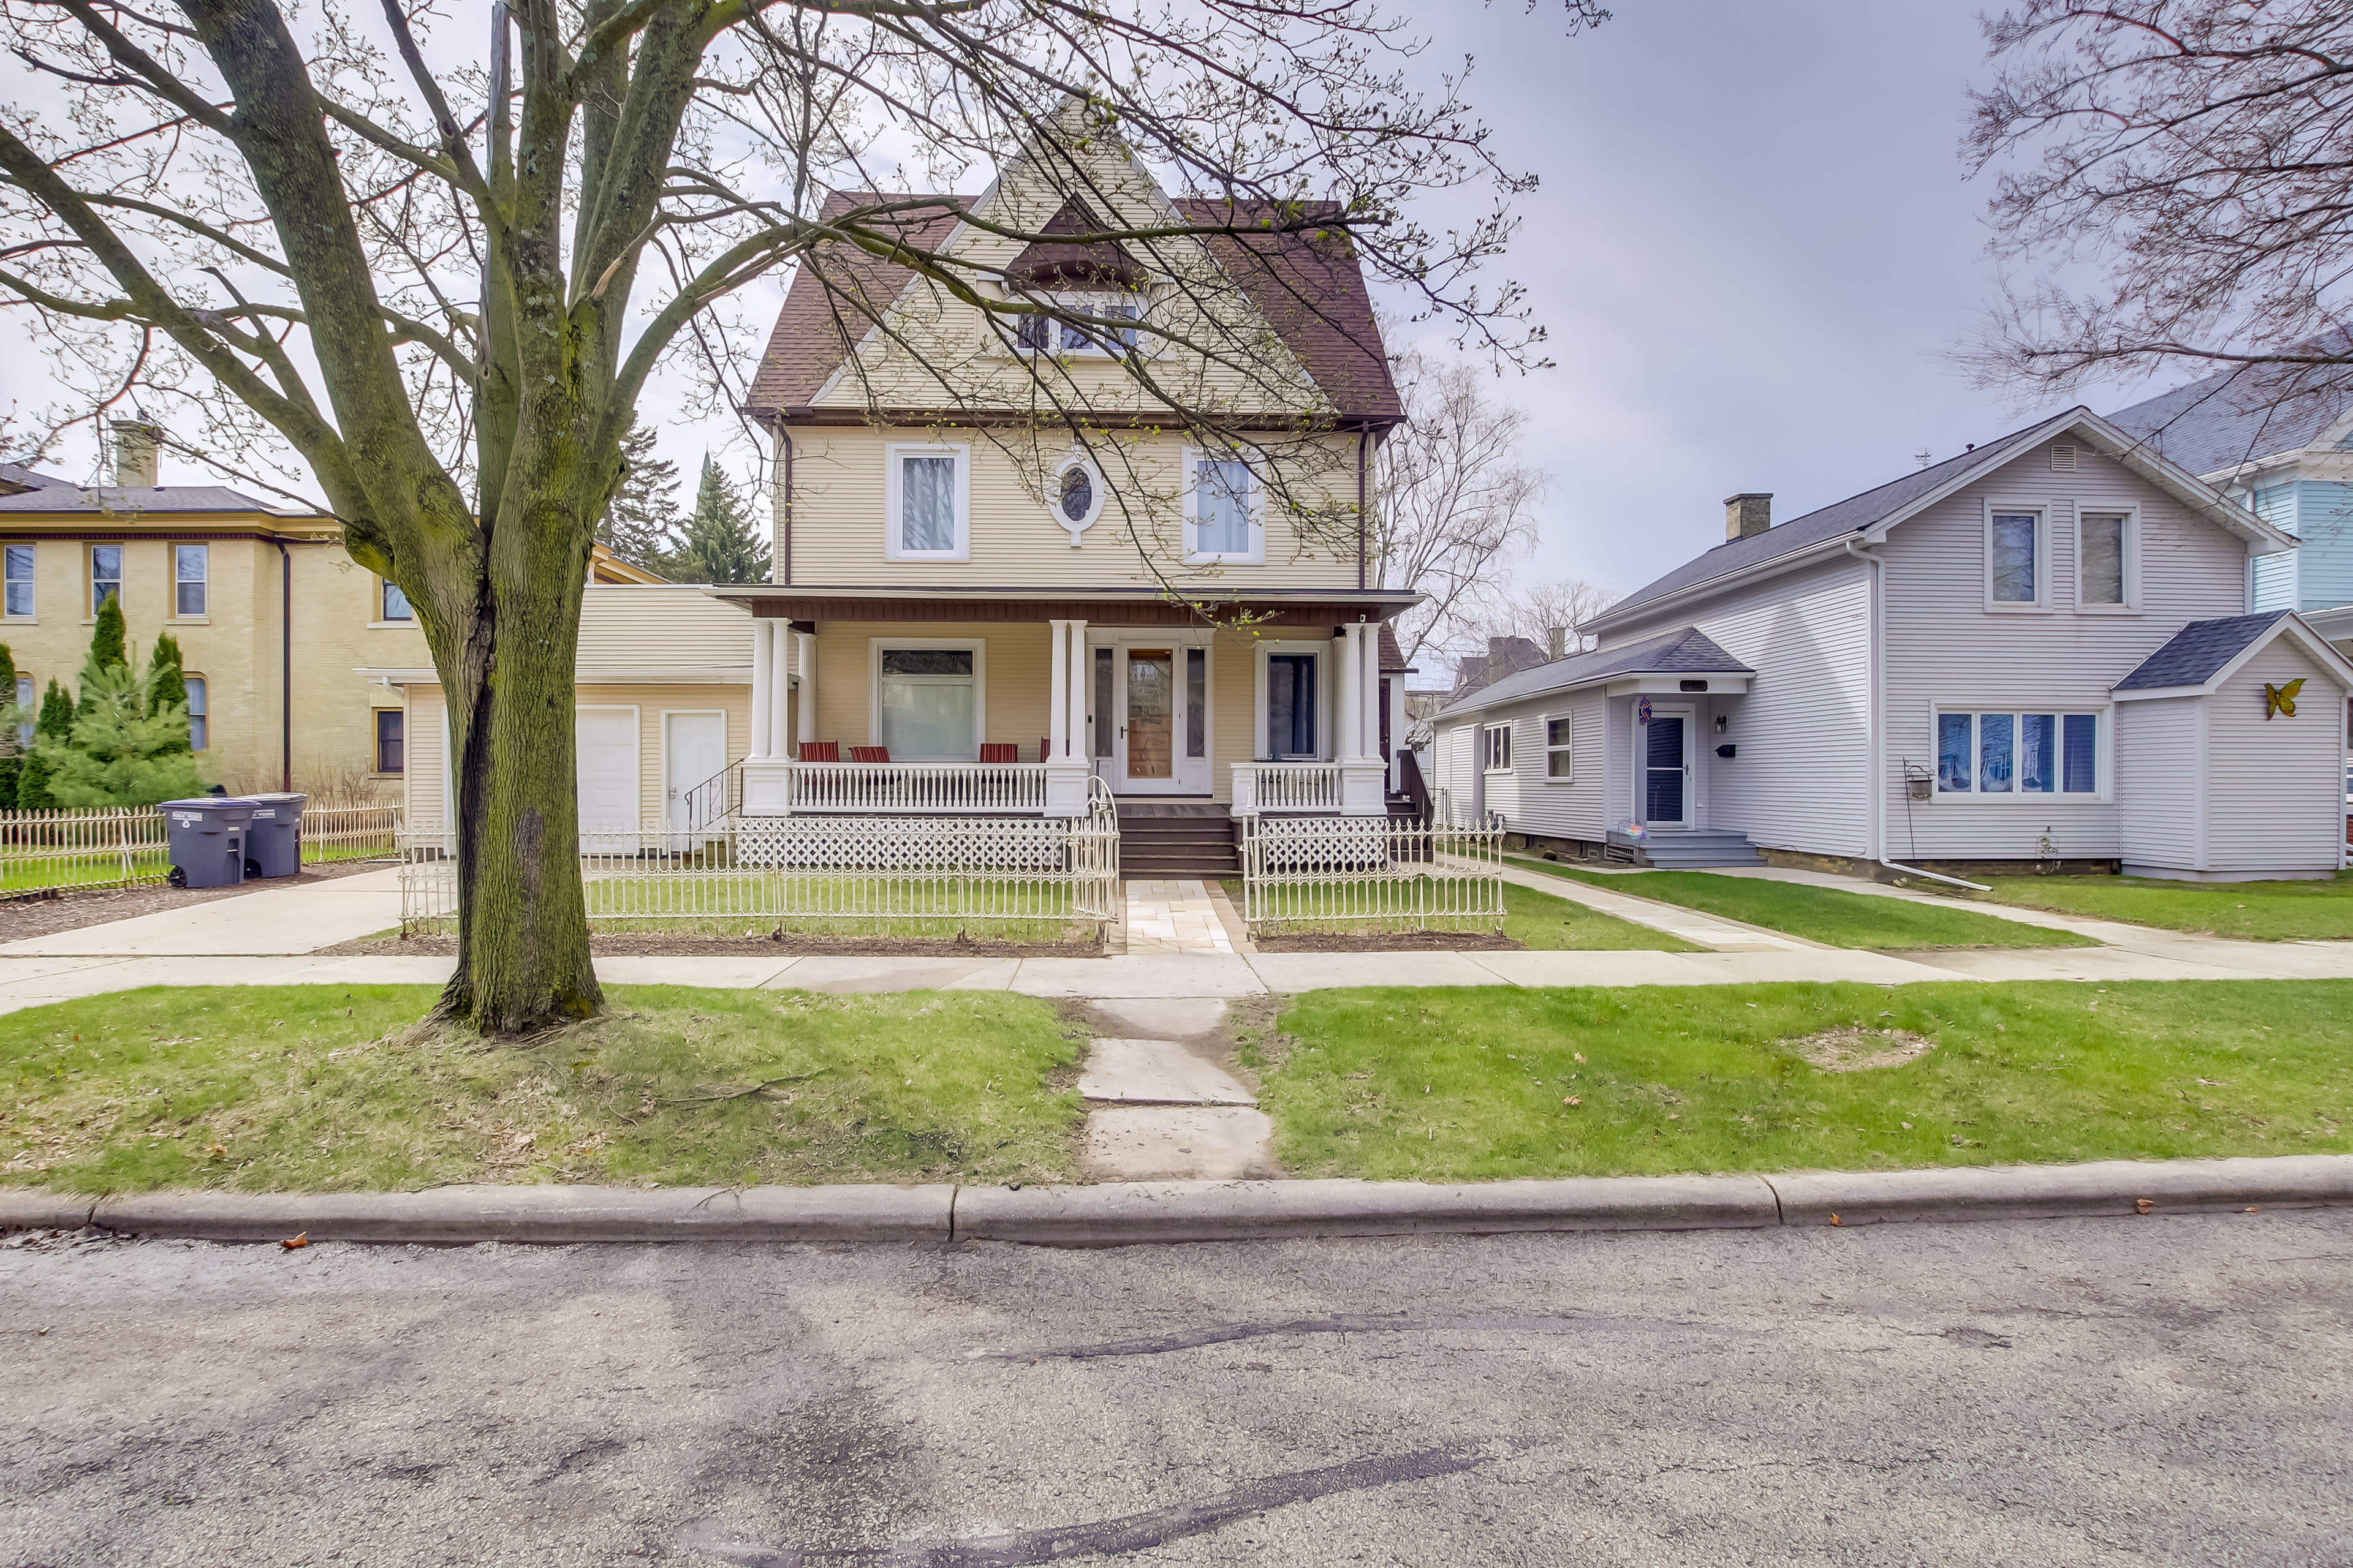
<svg viewBox="0 0 2353 1568"><path fill-rule="evenodd" d="M1845 1025L1937 1048L1791 1044ZM1245 1060L1292 1175L1494 1180L2348 1152L2346 1041L2353 980L1400 987L1297 997Z"/></svg>

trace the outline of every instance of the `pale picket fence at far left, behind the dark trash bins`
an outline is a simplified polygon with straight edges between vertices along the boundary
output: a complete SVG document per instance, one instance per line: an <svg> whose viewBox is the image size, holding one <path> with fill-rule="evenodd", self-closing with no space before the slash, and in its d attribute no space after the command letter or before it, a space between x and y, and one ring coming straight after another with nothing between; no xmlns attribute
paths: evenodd
<svg viewBox="0 0 2353 1568"><path fill-rule="evenodd" d="M388 860L400 842L400 806L304 811L304 865ZM165 816L155 806L0 811L0 898L125 889L172 875Z"/></svg>

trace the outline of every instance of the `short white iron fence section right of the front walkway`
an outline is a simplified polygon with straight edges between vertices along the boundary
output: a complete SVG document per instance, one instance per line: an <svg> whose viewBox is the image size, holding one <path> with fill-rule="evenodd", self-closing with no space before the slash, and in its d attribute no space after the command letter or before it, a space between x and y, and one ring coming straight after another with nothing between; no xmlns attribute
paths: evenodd
<svg viewBox="0 0 2353 1568"><path fill-rule="evenodd" d="M1242 820L1252 936L1501 931L1504 835L1377 816Z"/></svg>

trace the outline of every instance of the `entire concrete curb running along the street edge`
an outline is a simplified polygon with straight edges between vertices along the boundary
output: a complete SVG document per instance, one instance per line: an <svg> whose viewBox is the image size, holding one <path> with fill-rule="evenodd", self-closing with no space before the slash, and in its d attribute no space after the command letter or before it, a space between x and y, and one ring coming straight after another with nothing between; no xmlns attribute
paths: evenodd
<svg viewBox="0 0 2353 1568"><path fill-rule="evenodd" d="M2148 1204L2148 1208L2141 1208ZM1104 1182L1096 1187L435 1187L151 1192L92 1201L0 1190L0 1229L205 1241L1024 1241L1132 1246L1280 1237L1767 1229L2353 1208L2353 1154L2097 1161L1546 1182Z"/></svg>

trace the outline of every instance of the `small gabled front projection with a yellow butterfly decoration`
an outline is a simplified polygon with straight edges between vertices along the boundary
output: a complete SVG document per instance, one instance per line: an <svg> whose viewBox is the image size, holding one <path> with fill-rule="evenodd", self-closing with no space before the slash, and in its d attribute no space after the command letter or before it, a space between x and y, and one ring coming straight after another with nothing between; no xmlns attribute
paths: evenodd
<svg viewBox="0 0 2353 1568"><path fill-rule="evenodd" d="M2264 717L2264 684L2304 679L2297 717ZM2344 686L2287 639L2207 703L2207 865L2334 870L2344 844Z"/></svg>

